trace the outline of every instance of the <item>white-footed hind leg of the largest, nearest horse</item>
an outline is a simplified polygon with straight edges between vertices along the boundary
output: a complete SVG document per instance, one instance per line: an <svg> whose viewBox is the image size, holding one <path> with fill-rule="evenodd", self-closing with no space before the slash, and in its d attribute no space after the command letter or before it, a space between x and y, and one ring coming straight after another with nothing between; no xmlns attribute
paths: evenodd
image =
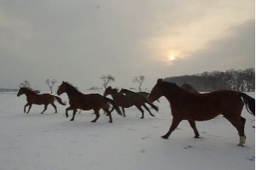
<svg viewBox="0 0 256 170"><path fill-rule="evenodd" d="M234 114L233 116L236 116L236 115L237 114ZM240 142L237 145L243 146L243 144L245 144L245 139L246 139L245 134L244 134L244 124L243 124L243 123L245 123L245 118L243 118L241 116L240 117L238 117L238 116L233 117L233 116L232 117L230 117L230 116L226 117L225 116L225 118L228 119L228 121L230 121L231 124L234 127L236 127L236 130L238 131L238 134L239 134L239 137L240 137Z"/></svg>

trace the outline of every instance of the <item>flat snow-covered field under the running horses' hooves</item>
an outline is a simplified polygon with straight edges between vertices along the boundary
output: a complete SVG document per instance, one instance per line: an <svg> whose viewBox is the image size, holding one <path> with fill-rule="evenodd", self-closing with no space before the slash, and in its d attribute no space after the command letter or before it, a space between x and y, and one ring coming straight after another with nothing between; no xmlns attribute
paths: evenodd
<svg viewBox="0 0 256 170"><path fill-rule="evenodd" d="M254 98L254 93L249 95ZM67 95L61 99L67 100ZM1 170L255 169L255 122L245 108L247 140L245 147L239 147L235 127L223 116L197 122L201 139L193 138L186 121L169 139L161 139L172 120L165 98L155 103L160 107L159 112L152 110L155 117L145 113L140 119L140 111L132 107L125 110L126 117L113 111L113 123L103 114L96 123L90 122L95 118L92 111L82 111L70 122L67 106L58 103L57 114L51 105L44 115L39 114L43 105L32 105L25 114L25 104L25 95L0 94Z"/></svg>

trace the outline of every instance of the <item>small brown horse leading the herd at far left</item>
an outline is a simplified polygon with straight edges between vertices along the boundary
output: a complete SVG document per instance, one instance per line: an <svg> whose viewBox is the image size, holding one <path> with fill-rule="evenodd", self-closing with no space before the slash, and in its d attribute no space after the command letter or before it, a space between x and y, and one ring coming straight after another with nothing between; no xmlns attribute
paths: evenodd
<svg viewBox="0 0 256 170"><path fill-rule="evenodd" d="M55 100L57 100L61 105L66 105L65 102L62 102L61 98L51 95L51 94L37 94L31 88L20 88L17 96L19 97L21 94L26 94L27 104L24 106L24 113L26 112L26 106L29 105L28 113L33 104L35 105L44 105L44 111L46 111L47 106L50 104L55 108L55 113L57 112L57 107L55 105ZM44 113L42 111L41 114Z"/></svg>

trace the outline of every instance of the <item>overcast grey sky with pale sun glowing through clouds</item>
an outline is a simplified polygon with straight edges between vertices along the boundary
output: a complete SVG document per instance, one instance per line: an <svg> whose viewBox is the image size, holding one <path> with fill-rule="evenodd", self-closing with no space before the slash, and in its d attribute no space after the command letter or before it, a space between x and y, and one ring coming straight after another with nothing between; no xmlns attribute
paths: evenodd
<svg viewBox="0 0 256 170"><path fill-rule="evenodd" d="M142 88L157 78L255 68L253 0L1 0L0 88Z"/></svg>

